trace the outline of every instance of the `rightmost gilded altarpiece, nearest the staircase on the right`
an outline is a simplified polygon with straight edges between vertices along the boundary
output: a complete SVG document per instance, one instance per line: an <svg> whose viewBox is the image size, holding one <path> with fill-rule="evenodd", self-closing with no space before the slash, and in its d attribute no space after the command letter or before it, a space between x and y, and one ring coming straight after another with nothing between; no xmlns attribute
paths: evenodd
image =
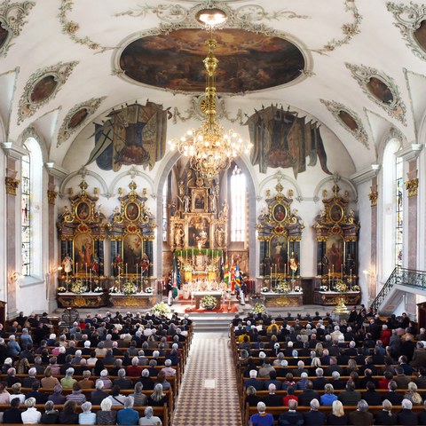
<svg viewBox="0 0 426 426"><path fill-rule="evenodd" d="M338 185L332 191L329 198L324 191L324 208L313 225L317 240L314 303L337 304L336 297L343 295L345 304L357 304L359 222L355 212L348 211L349 193L342 196Z"/></svg>

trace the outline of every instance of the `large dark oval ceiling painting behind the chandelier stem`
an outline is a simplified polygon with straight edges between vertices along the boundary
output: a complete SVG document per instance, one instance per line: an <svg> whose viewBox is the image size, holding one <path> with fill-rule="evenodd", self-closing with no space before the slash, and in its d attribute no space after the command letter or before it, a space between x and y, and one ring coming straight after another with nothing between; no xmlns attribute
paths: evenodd
<svg viewBox="0 0 426 426"><path fill-rule="evenodd" d="M221 29L214 37L219 92L279 86L292 82L304 70L302 51L283 38L234 28ZM207 38L206 31L194 28L139 38L122 51L120 67L139 83L174 91L204 91L202 59L208 53Z"/></svg>

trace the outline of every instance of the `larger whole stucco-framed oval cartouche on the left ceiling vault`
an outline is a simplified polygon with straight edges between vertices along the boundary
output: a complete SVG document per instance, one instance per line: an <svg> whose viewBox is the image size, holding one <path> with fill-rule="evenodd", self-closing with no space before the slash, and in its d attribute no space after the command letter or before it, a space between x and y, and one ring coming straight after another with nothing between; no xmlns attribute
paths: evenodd
<svg viewBox="0 0 426 426"><path fill-rule="evenodd" d="M59 62L51 67L38 69L29 77L20 97L18 124L56 97L61 86L67 82L68 76L77 64L78 61Z"/></svg>

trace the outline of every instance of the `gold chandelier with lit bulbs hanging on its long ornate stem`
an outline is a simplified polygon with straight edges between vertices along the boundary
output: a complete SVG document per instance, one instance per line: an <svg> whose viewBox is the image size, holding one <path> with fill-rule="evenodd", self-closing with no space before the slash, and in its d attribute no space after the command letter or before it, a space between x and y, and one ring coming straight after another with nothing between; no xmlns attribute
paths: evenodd
<svg viewBox="0 0 426 426"><path fill-rule="evenodd" d="M243 152L248 154L252 145L234 130L225 130L217 122L216 72L219 61L214 55L217 43L212 38L212 30L217 24L225 22L225 12L210 8L198 12L197 16L210 29L210 37L206 42L209 54L202 61L206 69L206 90L201 101L205 119L198 129L187 130L185 136L172 139L169 144L172 150L177 149L180 154L189 158L191 168L201 177L211 180L220 171L228 169L235 157Z"/></svg>

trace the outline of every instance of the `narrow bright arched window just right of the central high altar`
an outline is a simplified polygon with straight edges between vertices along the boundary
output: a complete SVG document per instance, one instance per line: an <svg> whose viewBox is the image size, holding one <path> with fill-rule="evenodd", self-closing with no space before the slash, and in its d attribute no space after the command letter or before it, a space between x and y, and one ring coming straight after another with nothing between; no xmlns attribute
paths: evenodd
<svg viewBox="0 0 426 426"><path fill-rule="evenodd" d="M246 239L247 223L247 188L246 177L241 169L235 165L231 175L231 242L244 242Z"/></svg>

